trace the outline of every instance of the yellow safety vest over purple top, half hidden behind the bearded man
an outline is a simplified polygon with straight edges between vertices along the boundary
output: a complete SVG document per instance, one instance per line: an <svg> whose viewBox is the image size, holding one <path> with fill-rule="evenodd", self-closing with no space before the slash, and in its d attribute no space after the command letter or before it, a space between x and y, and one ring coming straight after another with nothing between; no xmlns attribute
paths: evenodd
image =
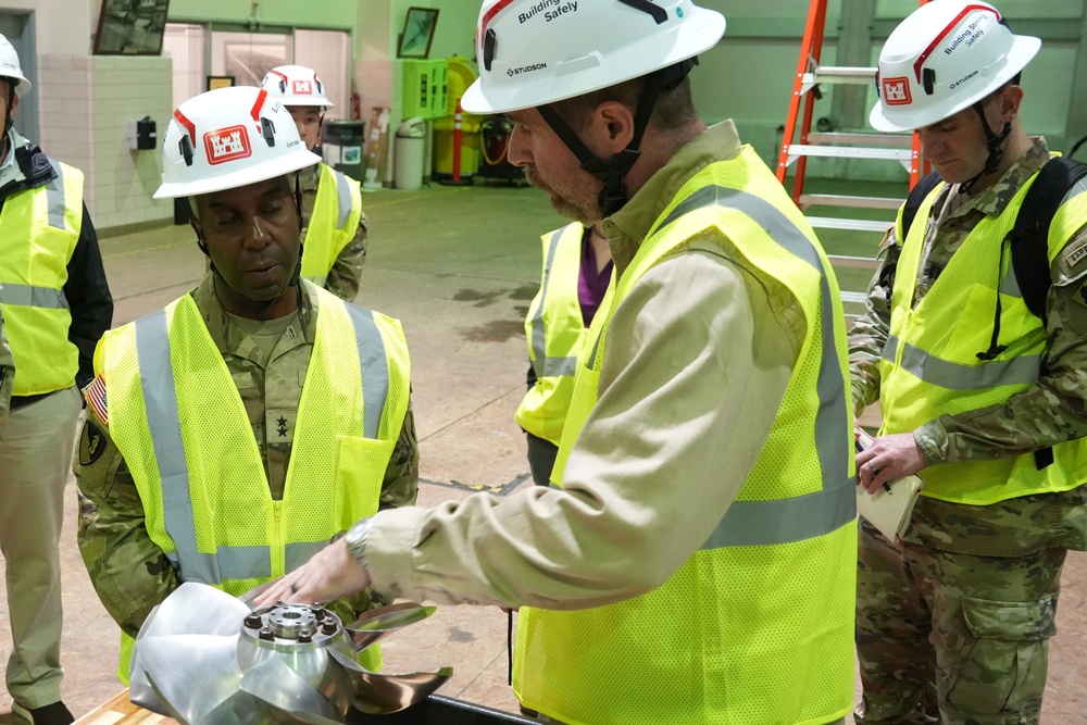
<svg viewBox="0 0 1087 725"><path fill-rule="evenodd" d="M555 446L562 436L574 395L577 359L588 334L577 297L584 236L584 226L570 224L541 237L544 278L525 318L536 385L522 399L516 418L522 428ZM613 287L608 287L601 310L610 304Z"/></svg>

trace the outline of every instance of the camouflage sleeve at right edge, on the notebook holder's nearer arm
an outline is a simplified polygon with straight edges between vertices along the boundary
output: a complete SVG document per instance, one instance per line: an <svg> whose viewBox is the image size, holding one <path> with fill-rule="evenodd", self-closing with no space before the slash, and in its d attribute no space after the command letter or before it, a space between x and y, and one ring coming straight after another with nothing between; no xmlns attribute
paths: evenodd
<svg viewBox="0 0 1087 725"><path fill-rule="evenodd" d="M1053 261L1048 366L1008 399L914 432L929 464L1008 458L1087 436L1087 225Z"/></svg>

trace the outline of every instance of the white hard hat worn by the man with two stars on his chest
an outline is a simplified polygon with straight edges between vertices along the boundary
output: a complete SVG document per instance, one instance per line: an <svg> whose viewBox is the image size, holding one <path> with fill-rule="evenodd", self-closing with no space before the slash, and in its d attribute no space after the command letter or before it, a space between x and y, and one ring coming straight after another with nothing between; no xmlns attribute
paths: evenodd
<svg viewBox="0 0 1087 725"><path fill-rule="evenodd" d="M155 199L235 189L312 166L293 118L266 90L217 88L174 111L162 142Z"/></svg>

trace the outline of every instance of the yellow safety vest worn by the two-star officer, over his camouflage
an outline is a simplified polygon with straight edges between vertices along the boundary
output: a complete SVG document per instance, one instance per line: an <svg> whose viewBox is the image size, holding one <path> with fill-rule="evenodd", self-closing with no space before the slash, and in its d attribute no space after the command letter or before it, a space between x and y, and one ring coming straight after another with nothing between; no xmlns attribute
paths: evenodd
<svg viewBox="0 0 1087 725"><path fill-rule="evenodd" d="M272 500L241 397L190 296L98 346L110 434L148 534L183 582L239 596L377 511L408 410L408 346L399 321L307 291L320 313L282 501ZM124 637L123 682L130 647ZM366 653L362 663L378 668L379 651Z"/></svg>

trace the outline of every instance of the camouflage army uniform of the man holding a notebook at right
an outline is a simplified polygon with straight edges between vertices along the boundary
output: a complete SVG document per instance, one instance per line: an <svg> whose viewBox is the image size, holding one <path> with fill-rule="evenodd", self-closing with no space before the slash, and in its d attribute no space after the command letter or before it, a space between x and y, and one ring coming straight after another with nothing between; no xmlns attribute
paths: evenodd
<svg viewBox="0 0 1087 725"><path fill-rule="evenodd" d="M978 222L1001 214L1049 158L1046 142L1036 139L976 198L957 187L940 192L914 307ZM928 465L1020 455L1087 436L1087 257L1076 254L1085 245L1080 228L1052 264L1049 373L1004 404L917 428ZM879 397L900 251L892 227L880 246L867 312L850 333L858 414ZM857 722L1038 722L1061 567L1069 549L1087 549L1087 486L991 505L922 496L904 550L866 523L861 530L857 647L864 697Z"/></svg>

